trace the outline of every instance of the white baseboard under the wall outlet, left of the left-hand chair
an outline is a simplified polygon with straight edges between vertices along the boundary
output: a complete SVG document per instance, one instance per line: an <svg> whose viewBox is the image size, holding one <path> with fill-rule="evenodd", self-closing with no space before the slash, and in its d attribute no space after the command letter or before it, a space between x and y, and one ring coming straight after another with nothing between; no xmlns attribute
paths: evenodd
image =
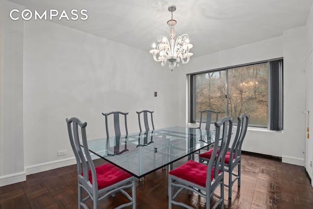
<svg viewBox="0 0 313 209"><path fill-rule="evenodd" d="M58 161L51 161L47 163L30 165L30 166L25 167L25 172L26 172L26 175L30 175L30 174L52 170L55 168L64 167L64 166L68 166L72 164L76 164L75 157L62 159Z"/></svg>

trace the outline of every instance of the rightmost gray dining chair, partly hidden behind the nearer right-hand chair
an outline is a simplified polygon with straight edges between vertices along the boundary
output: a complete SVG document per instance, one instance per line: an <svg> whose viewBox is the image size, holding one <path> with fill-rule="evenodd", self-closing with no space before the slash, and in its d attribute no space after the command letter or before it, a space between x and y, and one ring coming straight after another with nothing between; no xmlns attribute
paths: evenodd
<svg viewBox="0 0 313 209"><path fill-rule="evenodd" d="M237 131L235 138L232 142L230 151L227 151L225 154L224 160L224 170L228 172L228 198L231 199L232 186L238 180L238 186L240 186L240 178L241 178L241 147L243 145L243 141L246 137L246 131L248 127L249 116L243 114L238 117L237 123ZM213 149L210 149L207 152L204 152L199 155L199 162L204 163L208 162L209 159L214 156ZM232 156L232 157L231 157ZM237 172L235 172L235 168L238 167ZM233 179L233 177L235 177Z"/></svg>

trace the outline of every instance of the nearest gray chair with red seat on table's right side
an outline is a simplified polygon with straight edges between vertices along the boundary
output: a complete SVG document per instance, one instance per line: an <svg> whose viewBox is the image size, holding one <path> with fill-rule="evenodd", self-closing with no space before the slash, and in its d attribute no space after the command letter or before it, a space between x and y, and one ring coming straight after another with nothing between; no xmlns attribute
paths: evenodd
<svg viewBox="0 0 313 209"><path fill-rule="evenodd" d="M179 193L185 189L204 197L206 209L211 209L211 197L213 193L219 190L219 196L214 194L218 200L214 202L212 208L221 206L224 209L224 158L226 153L224 149L228 147L231 138L233 119L224 117L221 122L215 122L214 124L216 134L213 155L217 155L217 157L211 158L207 165L190 160L169 172L169 209L172 209L172 205L192 209L189 205L178 201L181 199L177 198ZM222 139L219 146L218 141L220 141L221 132ZM218 149L220 150L219 153L217 152ZM173 191L175 191L175 194Z"/></svg>

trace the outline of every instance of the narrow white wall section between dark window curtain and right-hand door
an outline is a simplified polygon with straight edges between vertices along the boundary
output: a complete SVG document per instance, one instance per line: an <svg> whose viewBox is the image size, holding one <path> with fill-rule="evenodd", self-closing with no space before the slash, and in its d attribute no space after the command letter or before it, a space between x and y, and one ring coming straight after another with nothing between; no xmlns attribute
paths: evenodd
<svg viewBox="0 0 313 209"><path fill-rule="evenodd" d="M306 30L298 27L284 31L284 157L304 157L306 140ZM287 161L288 162L288 161Z"/></svg>

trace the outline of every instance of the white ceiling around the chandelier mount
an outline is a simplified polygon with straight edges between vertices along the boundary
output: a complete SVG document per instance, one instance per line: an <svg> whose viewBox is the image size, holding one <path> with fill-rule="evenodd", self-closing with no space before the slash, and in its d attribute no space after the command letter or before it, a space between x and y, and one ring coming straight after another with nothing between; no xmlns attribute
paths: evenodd
<svg viewBox="0 0 313 209"><path fill-rule="evenodd" d="M169 34L169 5L176 5L176 36L187 33L195 56L281 36L306 23L313 0L9 0L37 11L87 9L88 20L54 20L149 51Z"/></svg>

